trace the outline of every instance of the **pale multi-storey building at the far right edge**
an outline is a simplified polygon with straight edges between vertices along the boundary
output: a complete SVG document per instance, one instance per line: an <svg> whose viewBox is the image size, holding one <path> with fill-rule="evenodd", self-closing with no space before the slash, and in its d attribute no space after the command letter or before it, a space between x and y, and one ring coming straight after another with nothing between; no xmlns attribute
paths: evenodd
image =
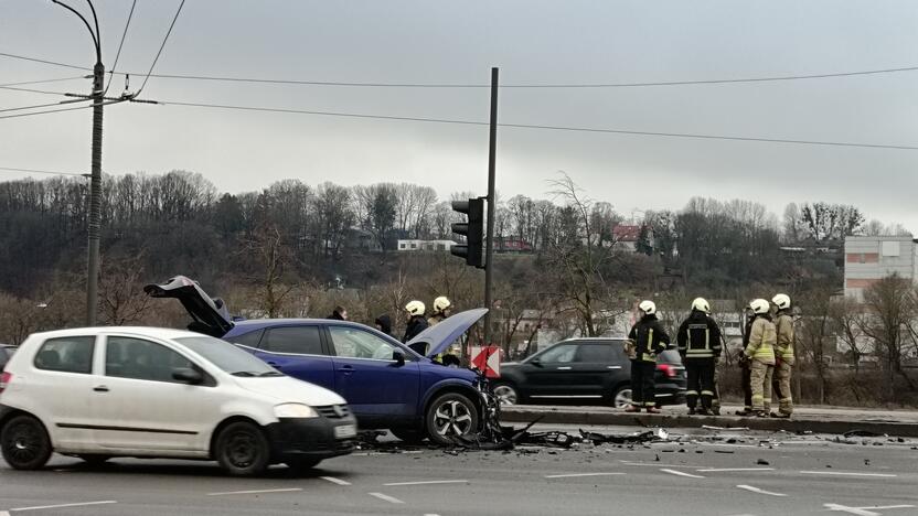
<svg viewBox="0 0 918 516"><path fill-rule="evenodd" d="M918 281L918 240L910 236L845 238L845 295L864 299L864 290L888 276Z"/></svg>

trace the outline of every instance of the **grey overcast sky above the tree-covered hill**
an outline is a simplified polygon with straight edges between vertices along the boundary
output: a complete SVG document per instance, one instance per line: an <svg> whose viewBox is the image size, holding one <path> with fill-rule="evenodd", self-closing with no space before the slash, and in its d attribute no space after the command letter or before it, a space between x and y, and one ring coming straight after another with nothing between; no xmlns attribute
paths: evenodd
<svg viewBox="0 0 918 516"><path fill-rule="evenodd" d="M84 8L83 0L68 0ZM110 67L131 2L96 0ZM178 0L138 0L118 63L142 82ZM328 82L645 83L918 66L918 3L904 1L188 0L156 72ZM92 66L78 19L0 0L0 52ZM0 84L79 75L0 56ZM88 80L33 86L88 92ZM110 93L125 87L118 78ZM502 89L506 123L918 146L918 72L780 83ZM487 121L487 88L252 85L151 78L143 97ZM0 109L56 101L0 89ZM21 111L13 111L21 112ZM7 114L0 114L0 116ZM88 109L0 119L0 166L84 172ZM310 184L487 189L488 128L121 104L105 110L103 169L200 172L221 191ZM546 196L566 171L626 215L692 196L861 207L918 233L918 151L503 128L498 191ZM0 178L26 174L3 172ZM39 175L35 175L39 176Z"/></svg>

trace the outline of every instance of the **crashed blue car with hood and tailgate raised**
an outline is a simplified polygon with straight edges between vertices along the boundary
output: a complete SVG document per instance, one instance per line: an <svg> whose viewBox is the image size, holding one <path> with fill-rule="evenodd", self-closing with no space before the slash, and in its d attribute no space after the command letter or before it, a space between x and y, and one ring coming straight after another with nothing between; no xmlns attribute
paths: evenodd
<svg viewBox="0 0 918 516"><path fill-rule="evenodd" d="M420 333L409 344L425 343L428 351L421 356L375 329L348 321L233 321L220 299L181 276L145 291L181 301L194 320L190 330L232 342L281 373L340 394L363 429L388 429L406 441L429 438L439 444L480 430L485 402L478 375L431 357L487 309L457 313Z"/></svg>

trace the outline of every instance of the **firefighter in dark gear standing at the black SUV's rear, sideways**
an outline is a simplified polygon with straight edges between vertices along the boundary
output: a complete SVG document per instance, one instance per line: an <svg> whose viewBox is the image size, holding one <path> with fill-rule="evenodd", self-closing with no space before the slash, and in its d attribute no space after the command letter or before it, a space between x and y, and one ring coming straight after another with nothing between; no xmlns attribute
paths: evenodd
<svg viewBox="0 0 918 516"><path fill-rule="evenodd" d="M644 407L648 412L660 413L657 408L653 375L657 372L657 355L670 344L660 321L657 320L657 305L653 301L642 301L638 305L641 320L631 329L628 338L633 346L631 358L631 406L627 412L640 412Z"/></svg>

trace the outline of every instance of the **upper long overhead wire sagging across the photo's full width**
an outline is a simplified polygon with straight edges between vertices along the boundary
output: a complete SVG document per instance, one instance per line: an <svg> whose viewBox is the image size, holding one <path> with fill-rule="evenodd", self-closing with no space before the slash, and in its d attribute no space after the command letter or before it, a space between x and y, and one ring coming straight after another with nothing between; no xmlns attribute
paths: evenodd
<svg viewBox="0 0 918 516"><path fill-rule="evenodd" d="M76 66L66 63L58 63L54 61L40 60L36 57L28 57L23 55L9 54L0 52L0 56L33 61L56 66L66 66L68 68L90 71L83 66ZM735 77L735 78L715 78L715 79L692 79L692 80L664 80L664 82L632 82L632 83L581 83L581 84L505 84L501 88L535 88L535 89L565 89L565 88L634 88L634 87L654 87L654 86L692 86L705 84L740 84L740 83L771 83L786 80L812 80L821 78L835 77L853 77L861 75L880 75L894 74L901 72L916 72L918 66L903 66L896 68L877 68L863 69L854 72L836 72L824 74L808 74L808 75L782 75L768 77ZM139 75L130 72L117 72L118 75ZM186 80L214 80L228 83L253 83L253 84L287 84L287 85L303 85L303 86L340 86L340 87L377 87L377 88L490 88L488 84L476 83L382 83L382 82L340 82L340 80L297 80L297 79L280 79L280 78L254 78L254 77L230 77L216 75L178 75L178 74L149 74L149 77L167 78L167 79L186 79Z"/></svg>

